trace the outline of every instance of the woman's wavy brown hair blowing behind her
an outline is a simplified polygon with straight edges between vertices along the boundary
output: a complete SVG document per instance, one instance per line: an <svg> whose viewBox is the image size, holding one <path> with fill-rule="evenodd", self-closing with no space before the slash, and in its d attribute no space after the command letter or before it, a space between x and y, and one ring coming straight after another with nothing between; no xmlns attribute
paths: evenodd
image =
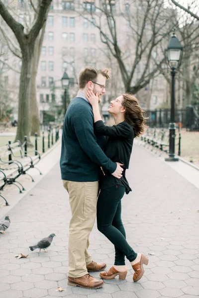
<svg viewBox="0 0 199 298"><path fill-rule="evenodd" d="M145 123L148 118L144 117L145 112L133 94L124 93L122 96L124 100L121 104L125 108L125 121L133 126L135 137L139 137L147 128Z"/></svg>

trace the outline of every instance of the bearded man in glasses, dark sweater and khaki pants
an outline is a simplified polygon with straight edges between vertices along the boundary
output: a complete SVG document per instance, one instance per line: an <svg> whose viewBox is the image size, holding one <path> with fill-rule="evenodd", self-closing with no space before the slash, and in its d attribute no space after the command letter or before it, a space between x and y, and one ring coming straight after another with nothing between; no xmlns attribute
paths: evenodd
<svg viewBox="0 0 199 298"><path fill-rule="evenodd" d="M64 188L69 193L72 218L69 225L68 284L86 289L103 286L88 274L101 271L105 263L96 263L88 252L89 235L93 229L99 193L100 167L120 178L123 169L102 151L105 138L94 132L92 106L86 98L89 88L98 92L100 101L110 70L86 67L79 75L79 92L71 101L64 119L60 158Z"/></svg>

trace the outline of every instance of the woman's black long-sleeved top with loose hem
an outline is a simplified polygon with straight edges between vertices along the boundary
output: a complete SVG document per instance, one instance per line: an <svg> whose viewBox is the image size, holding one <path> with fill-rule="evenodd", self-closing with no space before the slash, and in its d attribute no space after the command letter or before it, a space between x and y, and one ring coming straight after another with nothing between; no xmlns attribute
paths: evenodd
<svg viewBox="0 0 199 298"><path fill-rule="evenodd" d="M105 169L101 171L100 188L105 189L114 185L122 185L125 187L126 194L131 191L128 181L125 176L125 171L128 169L130 155L133 147L134 131L133 127L127 122L123 121L117 125L105 126L103 121L95 123L95 130L100 134L106 136L106 143L104 146L104 153L112 161L123 163L122 177L115 178Z"/></svg>

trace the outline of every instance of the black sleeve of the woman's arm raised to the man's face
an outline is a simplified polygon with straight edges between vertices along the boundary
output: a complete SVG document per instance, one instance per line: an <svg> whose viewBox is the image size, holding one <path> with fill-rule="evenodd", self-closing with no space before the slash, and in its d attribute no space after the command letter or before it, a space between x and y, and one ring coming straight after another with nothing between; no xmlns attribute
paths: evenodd
<svg viewBox="0 0 199 298"><path fill-rule="evenodd" d="M95 129L100 135L113 138L128 138L133 134L133 129L126 122L121 122L115 126L106 126L102 120L99 120L95 123Z"/></svg>

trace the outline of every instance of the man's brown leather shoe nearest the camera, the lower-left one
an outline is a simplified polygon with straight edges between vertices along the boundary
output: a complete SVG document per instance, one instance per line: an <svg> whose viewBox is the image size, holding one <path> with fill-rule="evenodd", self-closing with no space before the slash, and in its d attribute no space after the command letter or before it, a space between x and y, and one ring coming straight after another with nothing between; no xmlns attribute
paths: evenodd
<svg viewBox="0 0 199 298"><path fill-rule="evenodd" d="M99 289L104 283L89 274L85 274L81 277L68 277L68 285L73 287L81 287L84 289Z"/></svg>

